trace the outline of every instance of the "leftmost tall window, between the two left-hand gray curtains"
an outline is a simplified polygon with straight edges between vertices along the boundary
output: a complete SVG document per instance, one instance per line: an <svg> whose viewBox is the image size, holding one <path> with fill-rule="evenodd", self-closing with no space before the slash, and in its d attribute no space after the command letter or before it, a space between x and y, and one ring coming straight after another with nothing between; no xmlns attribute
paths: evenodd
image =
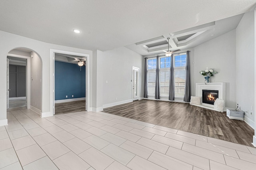
<svg viewBox="0 0 256 170"><path fill-rule="evenodd" d="M148 59L148 95L155 95L156 58Z"/></svg>

